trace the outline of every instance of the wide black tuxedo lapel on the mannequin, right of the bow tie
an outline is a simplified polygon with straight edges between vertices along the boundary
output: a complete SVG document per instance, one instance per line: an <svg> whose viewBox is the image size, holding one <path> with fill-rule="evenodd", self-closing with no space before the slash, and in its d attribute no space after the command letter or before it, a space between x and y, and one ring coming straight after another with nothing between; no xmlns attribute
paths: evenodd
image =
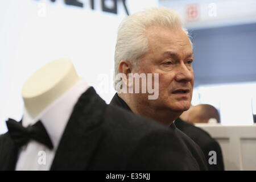
<svg viewBox="0 0 256 182"><path fill-rule="evenodd" d="M85 170L101 143L106 108L91 87L79 98L60 140L51 170Z"/></svg>

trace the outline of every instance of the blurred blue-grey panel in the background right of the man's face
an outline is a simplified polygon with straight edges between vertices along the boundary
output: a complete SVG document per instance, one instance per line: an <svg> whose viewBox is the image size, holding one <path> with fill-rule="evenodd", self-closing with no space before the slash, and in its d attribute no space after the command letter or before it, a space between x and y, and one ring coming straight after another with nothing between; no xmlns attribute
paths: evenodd
<svg viewBox="0 0 256 182"><path fill-rule="evenodd" d="M256 81L256 23L189 32L195 85Z"/></svg>

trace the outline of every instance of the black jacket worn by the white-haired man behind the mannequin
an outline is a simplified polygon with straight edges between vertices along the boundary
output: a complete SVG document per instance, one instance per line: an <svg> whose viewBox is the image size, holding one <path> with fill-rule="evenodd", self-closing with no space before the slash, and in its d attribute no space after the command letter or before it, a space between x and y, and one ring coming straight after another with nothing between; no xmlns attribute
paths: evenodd
<svg viewBox="0 0 256 182"><path fill-rule="evenodd" d="M112 98L110 105L119 106L125 110L129 110L130 112L132 112L130 107L126 104L125 101L122 100L122 98L118 96L117 93ZM166 129L168 128L166 127ZM187 164L185 165L189 166L194 170L208 170L206 159L200 147L195 142L193 142L191 138L189 138L182 131L177 129L174 123L172 123L170 129L168 130L170 131L170 133L175 133L174 137L177 138L176 145L179 145L179 148L182 148L183 158L187 158Z"/></svg>

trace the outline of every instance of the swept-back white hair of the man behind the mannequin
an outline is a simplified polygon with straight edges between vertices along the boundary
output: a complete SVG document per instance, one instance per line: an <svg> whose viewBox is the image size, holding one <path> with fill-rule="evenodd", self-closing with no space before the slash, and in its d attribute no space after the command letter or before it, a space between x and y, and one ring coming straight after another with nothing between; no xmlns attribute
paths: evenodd
<svg viewBox="0 0 256 182"><path fill-rule="evenodd" d="M181 28L188 35L188 31L182 27L179 14L165 7L155 7L127 16L119 26L115 44L115 76L119 73L121 60L130 61L136 66L139 57L148 51L146 31L152 26Z"/></svg>

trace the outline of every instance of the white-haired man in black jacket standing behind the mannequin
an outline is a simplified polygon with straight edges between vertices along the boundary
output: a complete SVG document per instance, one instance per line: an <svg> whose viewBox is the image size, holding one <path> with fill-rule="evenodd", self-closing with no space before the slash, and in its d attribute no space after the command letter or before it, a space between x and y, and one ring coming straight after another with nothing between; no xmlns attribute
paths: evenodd
<svg viewBox="0 0 256 182"><path fill-rule="evenodd" d="M205 170L207 162L199 146L174 125L175 119L191 105L192 62L192 43L177 13L154 8L128 16L119 27L115 47L115 75L122 78L122 92L115 94L110 104L170 127L187 148L187 155L191 156L195 166ZM135 73L154 74L158 97L149 99L150 92L133 92L137 85L130 76ZM148 83L150 78L146 78ZM142 82L141 90L145 87ZM119 89L117 85L115 89Z"/></svg>

